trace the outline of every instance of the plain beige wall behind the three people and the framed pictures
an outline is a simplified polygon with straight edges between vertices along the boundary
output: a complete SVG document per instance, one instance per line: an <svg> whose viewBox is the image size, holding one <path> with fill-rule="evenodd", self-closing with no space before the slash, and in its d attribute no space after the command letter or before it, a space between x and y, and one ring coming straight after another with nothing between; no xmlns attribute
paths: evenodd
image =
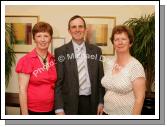
<svg viewBox="0 0 167 127"><path fill-rule="evenodd" d="M71 16L79 14L81 16L112 16L116 17L116 24L122 24L129 18L140 17L151 14L155 11L154 6L93 6L93 5L75 5L75 6L6 6L6 15L37 15L40 21L46 21L53 26L54 37L65 37L70 40L67 31L67 23ZM16 54L17 60L24 54ZM18 92L17 74L13 67L11 81L6 91Z"/></svg>

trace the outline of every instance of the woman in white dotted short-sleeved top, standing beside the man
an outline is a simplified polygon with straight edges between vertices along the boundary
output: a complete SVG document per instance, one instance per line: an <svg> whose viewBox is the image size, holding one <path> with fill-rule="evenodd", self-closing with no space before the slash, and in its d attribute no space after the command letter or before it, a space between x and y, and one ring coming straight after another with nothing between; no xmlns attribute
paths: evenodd
<svg viewBox="0 0 167 127"><path fill-rule="evenodd" d="M107 61L102 85L106 89L104 112L112 115L139 115L145 98L142 64L131 56L133 31L124 25L114 27L111 41L116 57Z"/></svg>

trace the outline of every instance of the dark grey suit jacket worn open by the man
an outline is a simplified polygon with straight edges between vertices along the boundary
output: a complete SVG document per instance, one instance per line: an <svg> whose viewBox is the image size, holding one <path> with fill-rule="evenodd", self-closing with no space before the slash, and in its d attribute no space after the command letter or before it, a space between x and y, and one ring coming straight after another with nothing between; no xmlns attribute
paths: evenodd
<svg viewBox="0 0 167 127"><path fill-rule="evenodd" d="M100 61L101 49L85 43L86 52L91 58L87 59L88 73L91 82L91 114L97 113L99 103L103 103L104 88L101 78L104 75L103 64ZM55 109L64 109L65 114L76 115L78 112L79 81L77 62L74 58L72 42L55 49L58 80L55 88ZM60 57L64 60L60 60Z"/></svg>

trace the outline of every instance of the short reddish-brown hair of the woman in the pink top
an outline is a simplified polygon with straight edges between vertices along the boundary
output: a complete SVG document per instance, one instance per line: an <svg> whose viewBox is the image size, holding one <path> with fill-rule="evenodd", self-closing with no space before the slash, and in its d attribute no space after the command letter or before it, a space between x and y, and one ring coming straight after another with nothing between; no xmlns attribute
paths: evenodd
<svg viewBox="0 0 167 127"><path fill-rule="evenodd" d="M35 34L38 32L48 32L51 37L53 35L52 26L46 22L38 22L34 25L34 27L32 29L33 38L35 37Z"/></svg>

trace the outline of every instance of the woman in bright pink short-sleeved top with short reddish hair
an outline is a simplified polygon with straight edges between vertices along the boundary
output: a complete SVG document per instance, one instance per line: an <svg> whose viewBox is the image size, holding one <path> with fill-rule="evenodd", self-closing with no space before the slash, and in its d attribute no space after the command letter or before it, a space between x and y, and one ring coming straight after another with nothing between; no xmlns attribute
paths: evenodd
<svg viewBox="0 0 167 127"><path fill-rule="evenodd" d="M38 22L32 29L36 47L17 63L22 115L54 114L54 87L57 80L54 57L48 52L53 29Z"/></svg>

